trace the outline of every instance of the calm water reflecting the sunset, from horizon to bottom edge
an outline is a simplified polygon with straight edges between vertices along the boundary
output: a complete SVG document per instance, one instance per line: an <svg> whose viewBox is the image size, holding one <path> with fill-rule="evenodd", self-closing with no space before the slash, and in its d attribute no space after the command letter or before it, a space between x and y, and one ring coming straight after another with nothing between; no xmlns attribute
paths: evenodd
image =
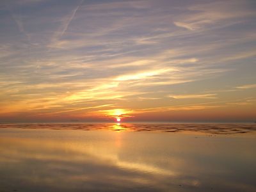
<svg viewBox="0 0 256 192"><path fill-rule="evenodd" d="M0 191L256 191L255 124L0 128Z"/></svg>

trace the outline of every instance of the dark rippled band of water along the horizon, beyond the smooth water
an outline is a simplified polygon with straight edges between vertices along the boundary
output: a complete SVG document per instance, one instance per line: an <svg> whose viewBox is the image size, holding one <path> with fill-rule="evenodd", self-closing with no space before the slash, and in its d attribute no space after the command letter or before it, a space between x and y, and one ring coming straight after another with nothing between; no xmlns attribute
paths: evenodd
<svg viewBox="0 0 256 192"><path fill-rule="evenodd" d="M256 132L256 124L0 124L0 129L111 130L202 132L205 134L244 134Z"/></svg>

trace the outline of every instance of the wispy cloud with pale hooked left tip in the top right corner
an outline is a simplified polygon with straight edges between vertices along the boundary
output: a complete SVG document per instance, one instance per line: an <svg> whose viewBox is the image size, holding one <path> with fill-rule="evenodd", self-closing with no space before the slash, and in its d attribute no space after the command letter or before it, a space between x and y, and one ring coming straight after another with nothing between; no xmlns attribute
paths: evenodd
<svg viewBox="0 0 256 192"><path fill-rule="evenodd" d="M187 9L190 12L178 15L173 24L190 31L209 30L242 22L245 17L255 17L255 12L248 10L242 1L212 1L189 5Z"/></svg>

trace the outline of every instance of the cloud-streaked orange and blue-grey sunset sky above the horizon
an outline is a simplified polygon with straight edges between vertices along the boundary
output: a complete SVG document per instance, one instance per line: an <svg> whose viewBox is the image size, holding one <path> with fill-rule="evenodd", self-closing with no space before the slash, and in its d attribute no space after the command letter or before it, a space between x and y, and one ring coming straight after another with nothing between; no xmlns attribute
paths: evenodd
<svg viewBox="0 0 256 192"><path fill-rule="evenodd" d="M0 1L0 122L254 122L256 1Z"/></svg>

